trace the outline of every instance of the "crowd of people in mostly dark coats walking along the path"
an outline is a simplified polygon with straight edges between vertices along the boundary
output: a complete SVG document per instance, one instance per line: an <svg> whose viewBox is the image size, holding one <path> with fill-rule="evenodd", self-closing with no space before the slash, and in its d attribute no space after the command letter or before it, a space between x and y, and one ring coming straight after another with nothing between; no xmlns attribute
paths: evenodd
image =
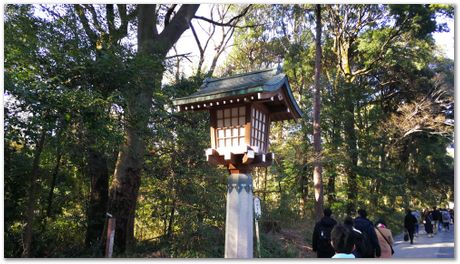
<svg viewBox="0 0 460 264"><path fill-rule="evenodd" d="M421 234L419 224L424 225L428 237L448 230L453 224L453 210L433 207L420 213L406 209L404 217L404 240L414 243L414 236ZM312 247L318 258L391 258L394 254L393 235L385 219L375 224L367 218L365 209L359 209L355 218L347 216L343 223L332 217L330 208L313 230ZM406 239L407 238L407 239Z"/></svg>

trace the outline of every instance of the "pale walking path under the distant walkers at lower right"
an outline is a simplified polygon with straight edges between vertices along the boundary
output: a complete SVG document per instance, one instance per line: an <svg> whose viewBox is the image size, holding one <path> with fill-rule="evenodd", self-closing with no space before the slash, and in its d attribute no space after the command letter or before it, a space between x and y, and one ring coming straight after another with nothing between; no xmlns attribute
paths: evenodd
<svg viewBox="0 0 460 264"><path fill-rule="evenodd" d="M431 238L423 231L423 225L420 229L412 245L404 241L402 235L395 237L393 258L455 258L454 225Z"/></svg>

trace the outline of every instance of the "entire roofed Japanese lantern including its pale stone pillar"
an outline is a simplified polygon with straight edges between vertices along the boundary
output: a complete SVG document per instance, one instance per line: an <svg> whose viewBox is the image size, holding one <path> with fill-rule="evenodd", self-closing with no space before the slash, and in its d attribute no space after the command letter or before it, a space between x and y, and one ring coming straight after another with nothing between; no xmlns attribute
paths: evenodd
<svg viewBox="0 0 460 264"><path fill-rule="evenodd" d="M227 192L225 257L251 258L253 167L272 164L270 123L301 116L281 68L204 80L200 89L174 100L178 111L209 111L209 163L230 171ZM243 191L244 190L244 191Z"/></svg>

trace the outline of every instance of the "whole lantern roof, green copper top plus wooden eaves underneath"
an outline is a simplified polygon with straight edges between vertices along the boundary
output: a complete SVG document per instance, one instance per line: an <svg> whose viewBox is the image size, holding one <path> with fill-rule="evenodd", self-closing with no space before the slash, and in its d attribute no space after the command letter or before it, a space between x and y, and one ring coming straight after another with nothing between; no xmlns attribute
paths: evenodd
<svg viewBox="0 0 460 264"><path fill-rule="evenodd" d="M179 111L209 110L237 102L264 104L273 121L302 115L281 67L224 78L206 78L197 92L173 101Z"/></svg>

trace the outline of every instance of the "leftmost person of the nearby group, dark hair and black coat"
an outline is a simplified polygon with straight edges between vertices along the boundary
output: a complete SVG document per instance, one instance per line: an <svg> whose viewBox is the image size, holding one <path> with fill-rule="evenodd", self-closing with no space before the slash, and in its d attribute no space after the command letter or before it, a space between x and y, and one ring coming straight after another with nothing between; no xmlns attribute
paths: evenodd
<svg viewBox="0 0 460 264"><path fill-rule="evenodd" d="M337 221L331 217L330 208L325 208L323 214L313 230L312 247L318 258L330 258L335 254L331 245L331 231Z"/></svg>

